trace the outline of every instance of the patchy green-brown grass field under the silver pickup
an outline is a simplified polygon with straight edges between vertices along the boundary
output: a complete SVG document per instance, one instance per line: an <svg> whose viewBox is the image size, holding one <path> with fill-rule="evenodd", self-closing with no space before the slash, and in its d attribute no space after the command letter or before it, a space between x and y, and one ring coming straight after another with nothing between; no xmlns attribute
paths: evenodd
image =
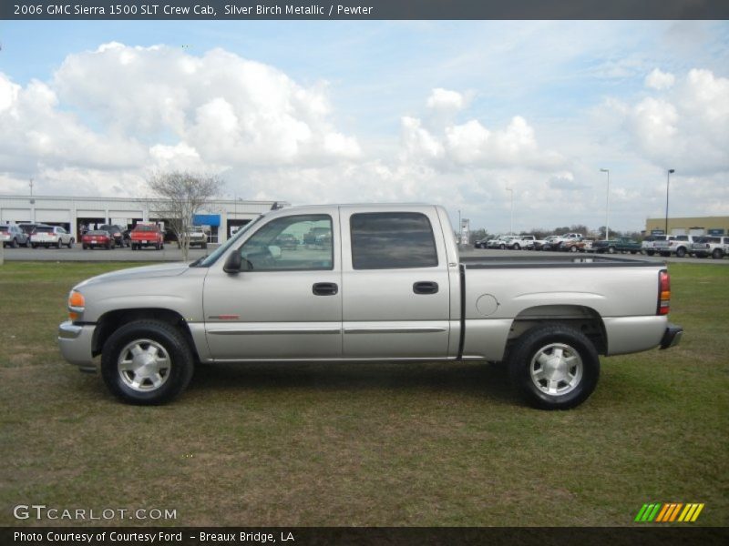
<svg viewBox="0 0 729 546"><path fill-rule="evenodd" d="M475 363L209 366L168 406L120 404L56 327L77 281L130 265L0 267L2 525L83 524L13 517L45 504L177 511L95 525L622 526L645 502L729 524L727 267L672 265L682 344L602 359L584 405L545 412Z"/></svg>

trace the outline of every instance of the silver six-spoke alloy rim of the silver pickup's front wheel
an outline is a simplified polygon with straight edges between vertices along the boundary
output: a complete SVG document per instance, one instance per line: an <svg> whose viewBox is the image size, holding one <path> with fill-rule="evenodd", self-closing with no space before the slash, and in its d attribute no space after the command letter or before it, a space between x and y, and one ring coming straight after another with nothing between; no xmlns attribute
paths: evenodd
<svg viewBox="0 0 729 546"><path fill-rule="evenodd" d="M159 389L169 379L171 368L167 350L151 339L135 339L119 351L119 377L138 392Z"/></svg>

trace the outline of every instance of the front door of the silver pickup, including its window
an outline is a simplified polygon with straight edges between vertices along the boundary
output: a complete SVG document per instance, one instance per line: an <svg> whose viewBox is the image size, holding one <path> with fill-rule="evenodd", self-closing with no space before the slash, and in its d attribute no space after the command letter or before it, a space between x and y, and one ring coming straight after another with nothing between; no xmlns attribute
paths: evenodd
<svg viewBox="0 0 729 546"><path fill-rule="evenodd" d="M342 357L339 218L332 210L272 217L237 249L248 270L226 273L222 260L210 269L203 307L213 359Z"/></svg>

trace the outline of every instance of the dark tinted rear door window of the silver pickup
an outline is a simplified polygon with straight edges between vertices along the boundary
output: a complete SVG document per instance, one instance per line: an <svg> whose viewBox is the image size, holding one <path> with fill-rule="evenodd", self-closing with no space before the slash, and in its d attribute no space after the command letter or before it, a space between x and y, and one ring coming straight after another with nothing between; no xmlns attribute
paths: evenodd
<svg viewBox="0 0 729 546"><path fill-rule="evenodd" d="M433 227L424 214L353 214L349 227L354 269L432 268L438 265Z"/></svg>

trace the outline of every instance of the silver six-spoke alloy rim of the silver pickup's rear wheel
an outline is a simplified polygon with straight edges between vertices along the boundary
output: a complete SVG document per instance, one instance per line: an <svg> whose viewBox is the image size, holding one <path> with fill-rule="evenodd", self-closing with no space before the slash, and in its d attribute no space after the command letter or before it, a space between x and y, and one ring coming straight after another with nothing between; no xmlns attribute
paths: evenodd
<svg viewBox="0 0 729 546"><path fill-rule="evenodd" d="M580 354L564 343L550 343L534 355L529 374L537 389L561 396L575 389L582 379Z"/></svg>

